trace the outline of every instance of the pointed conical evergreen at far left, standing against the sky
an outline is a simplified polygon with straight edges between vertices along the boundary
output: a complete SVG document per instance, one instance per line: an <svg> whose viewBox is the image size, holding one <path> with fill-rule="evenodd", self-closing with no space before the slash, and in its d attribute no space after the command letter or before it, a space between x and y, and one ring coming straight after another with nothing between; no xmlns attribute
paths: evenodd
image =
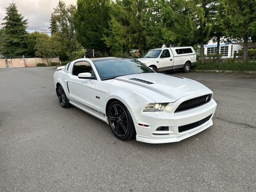
<svg viewBox="0 0 256 192"><path fill-rule="evenodd" d="M4 56L22 56L27 51L27 24L28 20L18 13L15 3L9 4L5 9L6 16L2 23L4 34L2 37L2 54Z"/></svg>

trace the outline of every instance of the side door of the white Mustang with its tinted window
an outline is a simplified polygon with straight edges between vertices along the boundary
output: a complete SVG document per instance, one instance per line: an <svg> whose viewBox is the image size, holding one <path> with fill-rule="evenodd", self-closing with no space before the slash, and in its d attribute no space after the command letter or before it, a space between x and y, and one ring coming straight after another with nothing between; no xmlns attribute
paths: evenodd
<svg viewBox="0 0 256 192"><path fill-rule="evenodd" d="M78 78L80 73L91 73L94 77L94 71L92 66L87 61L79 61L74 63L72 68L72 74L68 85L70 89L70 96L73 102L76 102L83 107L94 110L95 107L95 86L96 79L81 79Z"/></svg>

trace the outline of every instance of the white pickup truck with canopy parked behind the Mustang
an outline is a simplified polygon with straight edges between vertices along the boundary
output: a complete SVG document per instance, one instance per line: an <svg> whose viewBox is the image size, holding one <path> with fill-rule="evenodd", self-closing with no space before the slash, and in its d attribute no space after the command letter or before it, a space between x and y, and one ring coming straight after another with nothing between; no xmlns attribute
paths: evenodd
<svg viewBox="0 0 256 192"><path fill-rule="evenodd" d="M192 47L171 47L151 49L138 60L155 72L183 68L189 72L196 64L196 53Z"/></svg>

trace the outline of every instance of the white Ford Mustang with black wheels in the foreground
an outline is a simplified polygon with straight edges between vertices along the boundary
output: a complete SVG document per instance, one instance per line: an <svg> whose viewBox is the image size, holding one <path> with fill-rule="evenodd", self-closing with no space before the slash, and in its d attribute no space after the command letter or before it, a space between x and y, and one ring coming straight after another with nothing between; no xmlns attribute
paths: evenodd
<svg viewBox="0 0 256 192"><path fill-rule="evenodd" d="M216 109L206 86L132 58L78 59L54 73L54 84L63 108L103 120L120 140L178 142L210 127Z"/></svg>

